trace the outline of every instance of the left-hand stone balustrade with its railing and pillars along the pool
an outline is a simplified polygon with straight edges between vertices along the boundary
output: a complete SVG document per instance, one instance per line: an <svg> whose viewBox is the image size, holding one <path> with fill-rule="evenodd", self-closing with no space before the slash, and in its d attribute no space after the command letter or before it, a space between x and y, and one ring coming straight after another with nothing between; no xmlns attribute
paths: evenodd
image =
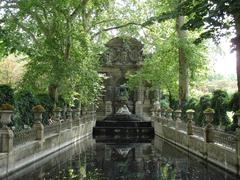
<svg viewBox="0 0 240 180"><path fill-rule="evenodd" d="M56 115L57 121L46 126L38 119L28 130L13 133L7 127L0 129L0 179L92 134L96 122L94 111L88 111L81 117L72 115L70 111L66 120L59 113Z"/></svg>

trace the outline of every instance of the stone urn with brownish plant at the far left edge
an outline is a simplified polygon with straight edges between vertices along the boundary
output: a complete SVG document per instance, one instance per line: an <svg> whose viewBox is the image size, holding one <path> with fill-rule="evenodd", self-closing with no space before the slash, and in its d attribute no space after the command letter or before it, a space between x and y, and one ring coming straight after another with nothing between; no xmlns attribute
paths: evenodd
<svg viewBox="0 0 240 180"><path fill-rule="evenodd" d="M3 127L7 127L7 124L11 122L14 107L9 103L4 103L0 106L1 123Z"/></svg>

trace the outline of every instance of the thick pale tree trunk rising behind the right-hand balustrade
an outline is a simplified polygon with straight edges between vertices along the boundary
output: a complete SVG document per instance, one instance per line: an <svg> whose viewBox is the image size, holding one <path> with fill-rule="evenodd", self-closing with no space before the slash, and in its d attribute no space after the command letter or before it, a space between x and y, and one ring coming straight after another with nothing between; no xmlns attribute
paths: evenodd
<svg viewBox="0 0 240 180"><path fill-rule="evenodd" d="M184 17L178 16L176 19L176 30L180 41L184 40L187 37L187 32L181 29L183 24ZM181 45L179 46L178 52L179 52L179 85L178 85L179 108L183 109L188 98L188 85L189 85L188 63L184 48L181 47Z"/></svg>

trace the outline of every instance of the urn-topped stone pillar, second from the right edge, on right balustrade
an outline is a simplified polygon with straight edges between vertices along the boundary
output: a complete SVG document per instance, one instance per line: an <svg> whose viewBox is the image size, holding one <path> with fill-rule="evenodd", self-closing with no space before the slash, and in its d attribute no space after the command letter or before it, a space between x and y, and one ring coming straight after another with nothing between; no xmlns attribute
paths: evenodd
<svg viewBox="0 0 240 180"><path fill-rule="evenodd" d="M211 124L211 122L213 121L213 115L214 115L214 110L213 109L206 109L204 111L206 120L207 120L207 125L205 126L204 129L204 140L205 142L209 143L209 142L213 142L213 136L214 136L214 127Z"/></svg>

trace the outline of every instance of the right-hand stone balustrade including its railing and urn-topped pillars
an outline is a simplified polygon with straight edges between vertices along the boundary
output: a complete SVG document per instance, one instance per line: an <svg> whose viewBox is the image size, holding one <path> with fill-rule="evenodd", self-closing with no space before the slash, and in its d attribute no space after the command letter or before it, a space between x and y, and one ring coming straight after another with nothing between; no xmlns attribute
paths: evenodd
<svg viewBox="0 0 240 180"><path fill-rule="evenodd" d="M240 127L235 134L219 131L211 124L214 112L205 112L205 127L193 125L192 115L181 119L181 111L175 111L175 123L169 122L165 113L153 113L155 134L165 140L196 154L224 169L240 175ZM174 126L175 124L175 126Z"/></svg>

